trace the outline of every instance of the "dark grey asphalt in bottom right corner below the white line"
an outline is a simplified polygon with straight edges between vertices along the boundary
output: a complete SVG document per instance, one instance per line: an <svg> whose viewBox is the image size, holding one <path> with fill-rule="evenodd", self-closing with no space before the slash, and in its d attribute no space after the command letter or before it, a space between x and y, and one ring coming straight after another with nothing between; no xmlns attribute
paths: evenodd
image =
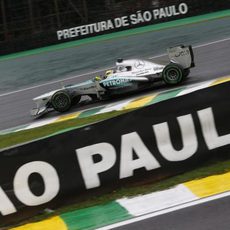
<svg viewBox="0 0 230 230"><path fill-rule="evenodd" d="M183 208L138 222L113 228L116 230L229 230L230 197Z"/></svg>

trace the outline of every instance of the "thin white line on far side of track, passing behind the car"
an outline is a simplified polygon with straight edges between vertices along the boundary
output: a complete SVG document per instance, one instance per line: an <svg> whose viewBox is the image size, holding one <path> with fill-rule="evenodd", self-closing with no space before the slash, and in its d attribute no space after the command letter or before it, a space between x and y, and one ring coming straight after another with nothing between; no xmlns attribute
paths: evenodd
<svg viewBox="0 0 230 230"><path fill-rule="evenodd" d="M197 45L197 46L194 46L193 48L196 49L196 48L200 48L200 47L204 47L204 46L210 46L210 45L213 45L213 44L217 44L217 43L221 43L221 42L225 42L225 41L229 41L229 40L230 40L230 38L225 38L225 39L221 39L221 40L217 40L217 41ZM149 59L155 59L155 58L163 57L165 55L166 55L166 53L163 53L163 54L160 54L160 55L157 55L157 56L149 57ZM78 78L78 77L82 77L82 76L86 76L86 75L90 75L90 74L95 74L95 73L98 73L98 72L101 72L101 71L106 71L106 70L111 69L111 68L114 68L114 66L113 67L110 66L110 67L107 67L107 68L95 70L95 71L88 72L88 73L79 74L77 76L72 76L72 77L68 77L68 78L65 78L65 79L59 79L59 80L56 80L56 81L47 82L47 83L36 85L36 86L31 86L31 87L24 88L24 89L15 90L15 91L8 92L8 93L3 93L3 94L0 94L0 97L8 96L8 95L15 94L15 93L20 93L20 92L23 92L23 91L39 88L39 87L46 86L46 85L52 85L52 84L55 84L55 83L66 81L66 80L72 80L74 78Z"/></svg>

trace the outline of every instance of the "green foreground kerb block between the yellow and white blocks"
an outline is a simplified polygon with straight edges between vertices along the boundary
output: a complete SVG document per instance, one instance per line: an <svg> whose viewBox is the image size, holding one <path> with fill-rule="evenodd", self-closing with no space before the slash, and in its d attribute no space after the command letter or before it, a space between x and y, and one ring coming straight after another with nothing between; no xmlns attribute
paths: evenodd
<svg viewBox="0 0 230 230"><path fill-rule="evenodd" d="M60 215L68 230L95 229L118 221L130 219L132 216L117 202L84 208Z"/></svg>

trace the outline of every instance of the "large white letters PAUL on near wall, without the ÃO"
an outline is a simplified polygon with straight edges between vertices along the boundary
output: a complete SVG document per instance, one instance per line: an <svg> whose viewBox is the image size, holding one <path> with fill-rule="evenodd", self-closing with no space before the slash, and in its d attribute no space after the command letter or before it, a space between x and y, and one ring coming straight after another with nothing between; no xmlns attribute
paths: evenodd
<svg viewBox="0 0 230 230"><path fill-rule="evenodd" d="M218 135L211 108L200 110L197 114L202 127L202 135L209 150L230 144L230 133L223 136ZM199 146L192 115L180 116L176 120L181 130L183 143L180 150L175 149L173 146L167 122L152 126L157 148L161 156L170 162L189 159L196 154ZM117 154L112 144L106 142L76 149L76 155L87 189L101 185L99 174L110 170L118 160L118 155L120 155L119 179L132 177L136 169L145 168L145 170L149 171L161 167L160 162L145 145L138 132L122 135L120 145L119 154ZM133 159L133 152L136 154L136 159ZM98 154L101 161L95 163L93 158Z"/></svg>

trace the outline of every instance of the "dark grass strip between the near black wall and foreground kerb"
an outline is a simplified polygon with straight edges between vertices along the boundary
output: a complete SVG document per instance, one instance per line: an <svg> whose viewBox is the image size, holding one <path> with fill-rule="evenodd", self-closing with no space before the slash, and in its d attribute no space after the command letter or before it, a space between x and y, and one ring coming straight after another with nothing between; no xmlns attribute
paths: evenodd
<svg viewBox="0 0 230 230"><path fill-rule="evenodd" d="M226 155L225 157L229 158L229 155ZM71 201L72 205L67 205L65 207L59 208L52 213L44 213L35 216L31 219L21 222L20 225L40 221L47 217L60 215L66 212L71 212L76 209L82 209L82 208L87 208L99 204L105 204L122 197L132 197L140 194L143 195L155 191L168 189L170 187L173 187L175 185L190 180L200 179L211 175L223 174L229 171L230 171L230 160L216 161L216 159L212 159L206 162L205 164L203 164L202 166L195 168L189 172L162 180L157 183L147 183L147 184L142 184L141 186L139 184L124 186L117 190L114 190L113 192L104 195L90 196L88 199L85 199L80 202L79 200L78 201L72 200Z"/></svg>

